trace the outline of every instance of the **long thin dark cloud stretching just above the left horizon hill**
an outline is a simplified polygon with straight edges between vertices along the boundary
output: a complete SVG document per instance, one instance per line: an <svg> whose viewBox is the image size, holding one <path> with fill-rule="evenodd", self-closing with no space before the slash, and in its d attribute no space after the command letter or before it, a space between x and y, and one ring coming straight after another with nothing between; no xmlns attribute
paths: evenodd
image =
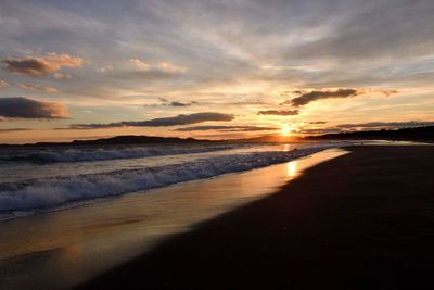
<svg viewBox="0 0 434 290"><path fill-rule="evenodd" d="M69 129L103 129L114 127L168 127L177 125L190 125L208 121L229 122L235 117L231 114L221 113L195 113L190 115L178 115L175 117L161 117L148 121L129 121L116 122L107 124L72 124Z"/></svg>

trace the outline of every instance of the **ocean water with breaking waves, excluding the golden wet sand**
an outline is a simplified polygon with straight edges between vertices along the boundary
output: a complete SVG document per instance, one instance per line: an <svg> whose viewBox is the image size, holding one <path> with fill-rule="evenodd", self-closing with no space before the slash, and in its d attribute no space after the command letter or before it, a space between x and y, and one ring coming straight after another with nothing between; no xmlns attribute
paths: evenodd
<svg viewBox="0 0 434 290"><path fill-rule="evenodd" d="M3 148L0 149L0 220L99 202L138 190L259 168L340 144Z"/></svg>

